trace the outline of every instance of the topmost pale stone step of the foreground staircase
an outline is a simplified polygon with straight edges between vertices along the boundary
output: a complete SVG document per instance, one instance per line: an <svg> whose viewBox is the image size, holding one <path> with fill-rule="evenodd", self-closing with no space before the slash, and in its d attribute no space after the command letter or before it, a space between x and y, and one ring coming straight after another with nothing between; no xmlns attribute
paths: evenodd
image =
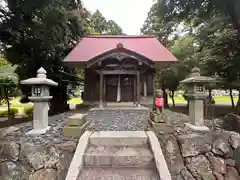
<svg viewBox="0 0 240 180"><path fill-rule="evenodd" d="M100 131L90 136L95 146L142 146L148 142L144 131Z"/></svg>

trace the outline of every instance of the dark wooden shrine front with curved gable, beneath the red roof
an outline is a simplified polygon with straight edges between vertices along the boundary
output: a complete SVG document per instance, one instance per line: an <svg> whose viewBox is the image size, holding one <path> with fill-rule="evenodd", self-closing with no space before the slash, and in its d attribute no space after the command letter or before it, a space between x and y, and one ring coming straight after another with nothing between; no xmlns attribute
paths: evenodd
<svg viewBox="0 0 240 180"><path fill-rule="evenodd" d="M99 100L100 107L107 102L134 102L138 105L141 96L152 96L154 92L154 72L152 62L118 47L115 52L88 64L83 99Z"/></svg>

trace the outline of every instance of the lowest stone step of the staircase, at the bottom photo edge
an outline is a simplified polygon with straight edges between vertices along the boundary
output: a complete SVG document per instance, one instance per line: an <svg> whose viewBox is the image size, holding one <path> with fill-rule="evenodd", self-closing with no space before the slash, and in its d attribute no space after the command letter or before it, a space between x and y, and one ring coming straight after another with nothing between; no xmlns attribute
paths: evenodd
<svg viewBox="0 0 240 180"><path fill-rule="evenodd" d="M77 180L160 180L153 168L85 167Z"/></svg>

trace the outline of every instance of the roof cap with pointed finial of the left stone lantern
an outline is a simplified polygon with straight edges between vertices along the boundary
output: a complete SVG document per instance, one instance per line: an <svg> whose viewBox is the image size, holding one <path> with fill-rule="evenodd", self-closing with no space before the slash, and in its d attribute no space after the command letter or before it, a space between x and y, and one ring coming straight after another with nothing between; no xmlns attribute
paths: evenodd
<svg viewBox="0 0 240 180"><path fill-rule="evenodd" d="M58 83L47 78L47 71L41 67L37 71L37 77L29 78L21 81L21 84L25 85L48 85L48 86L58 86Z"/></svg>

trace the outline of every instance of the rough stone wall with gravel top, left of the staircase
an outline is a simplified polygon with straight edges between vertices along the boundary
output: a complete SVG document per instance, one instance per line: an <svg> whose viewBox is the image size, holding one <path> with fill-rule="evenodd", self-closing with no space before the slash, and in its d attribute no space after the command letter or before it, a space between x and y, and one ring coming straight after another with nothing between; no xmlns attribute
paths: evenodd
<svg viewBox="0 0 240 180"><path fill-rule="evenodd" d="M78 139L63 136L71 113L49 118L51 130L27 136L32 122L0 129L1 180L65 180Z"/></svg>

